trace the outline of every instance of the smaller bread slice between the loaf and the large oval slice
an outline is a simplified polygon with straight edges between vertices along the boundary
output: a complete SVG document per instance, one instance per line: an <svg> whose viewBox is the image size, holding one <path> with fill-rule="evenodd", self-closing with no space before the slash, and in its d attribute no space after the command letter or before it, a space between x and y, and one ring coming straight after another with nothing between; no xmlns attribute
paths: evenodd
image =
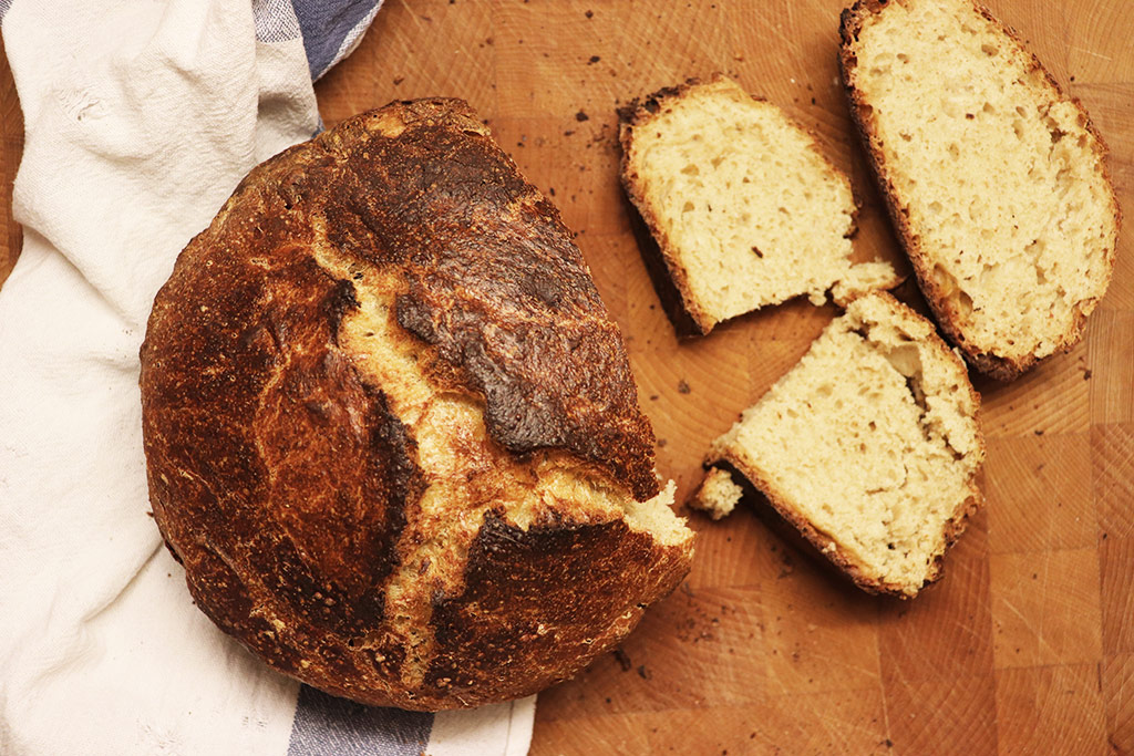
<svg viewBox="0 0 1134 756"><path fill-rule="evenodd" d="M620 111L621 178L699 333L799 295L821 304L899 282L852 267L850 184L782 110L735 82L689 79Z"/></svg>

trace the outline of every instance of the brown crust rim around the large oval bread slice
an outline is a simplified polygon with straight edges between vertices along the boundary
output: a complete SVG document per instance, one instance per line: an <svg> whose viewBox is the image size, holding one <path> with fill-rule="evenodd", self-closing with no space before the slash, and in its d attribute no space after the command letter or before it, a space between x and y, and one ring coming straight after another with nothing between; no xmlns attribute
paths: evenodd
<svg viewBox="0 0 1134 756"><path fill-rule="evenodd" d="M880 194L886 203L887 211L889 212L890 220L897 231L898 239L902 241L906 256L909 257L909 262L913 265L914 273L917 278L917 284L921 288L922 295L925 297L925 303L933 313L933 318L940 325L942 333L953 345L964 352L965 359L979 372L998 381L1014 381L1034 367L1038 363L1070 351L1083 338L1083 332L1086 325L1086 315L1080 311L1075 323L1064 334L1059 347L1051 355L1048 355L1042 359L1038 359L1033 354L1025 355L1019 359L1001 357L989 351L982 351L965 341L965 334L960 330L960 316L951 306L949 297L946 296L947 292L943 291L942 288L933 280L932 261L930 260L929 254L923 250L921 238L911 227L909 219L906 214L907 211L903 207L894 181L889 178L881 141L873 125L872 108L865 102L861 91L854 85L854 73L857 66L857 57L854 45L858 41L858 34L862 31L863 24L870 16L881 12L887 8L887 6L891 5L891 2L904 5L902 0L857 0L853 6L844 9L840 16L839 37L841 43L839 45L839 73L843 80L843 88L846 92L847 102L849 104L850 118L854 121L858 136L865 147L866 160L870 163L871 172L878 182ZM1106 161L1108 152L1107 145L1102 139L1102 135L1099 133L1098 128L1095 128L1086 110L1083 108L1082 102L1075 97L1067 97L1064 94L1063 87L1059 86L1059 83L1051 76L1047 68L1043 67L1039 58L1026 49L1022 37L1015 29L1001 24L984 7L975 2L973 2L973 7L981 16L1017 43L1019 51L1030 59L1030 70L1040 71L1047 82L1055 88L1057 95L1073 103L1080 111L1083 117L1085 128L1097 139L1100 151L1099 163L1102 165L1103 179L1110 188L1111 214L1115 218L1116 224L1120 223L1122 210L1114 193L1114 182L1110 179L1110 172ZM1109 283L1110 275L1114 270L1114 260L1115 248L1112 247L1108 254L1106 283Z"/></svg>

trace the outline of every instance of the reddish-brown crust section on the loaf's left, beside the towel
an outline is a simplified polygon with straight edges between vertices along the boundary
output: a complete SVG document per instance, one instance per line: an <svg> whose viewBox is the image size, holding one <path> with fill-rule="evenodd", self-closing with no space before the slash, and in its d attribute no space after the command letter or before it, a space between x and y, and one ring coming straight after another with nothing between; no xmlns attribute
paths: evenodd
<svg viewBox="0 0 1134 756"><path fill-rule="evenodd" d="M284 207L259 196L276 203L265 214ZM297 227L227 220L253 222L262 232L225 254L191 245L159 296L143 348L145 443L155 516L197 603L296 672L291 660L333 660L264 617L347 637L381 623L424 483L384 396L338 349L354 283L329 277Z"/></svg>

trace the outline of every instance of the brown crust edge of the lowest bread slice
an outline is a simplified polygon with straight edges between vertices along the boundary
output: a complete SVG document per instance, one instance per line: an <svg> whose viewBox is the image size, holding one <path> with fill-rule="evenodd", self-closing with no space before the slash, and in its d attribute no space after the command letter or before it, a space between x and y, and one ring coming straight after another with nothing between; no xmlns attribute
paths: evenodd
<svg viewBox="0 0 1134 756"><path fill-rule="evenodd" d="M904 307L897 301L891 295L887 292L878 292L875 296L883 297L895 307L903 307L906 317L913 317L924 322L931 329L933 335L925 341L925 343L932 345L940 354L945 355L949 362L954 363L960 375L965 375L965 364L957 357L957 355L946 346L943 341L937 338L936 333L932 331L932 324L929 323L924 317L919 315L916 312L908 307ZM970 399L973 402L974 411L978 417L980 417L980 405L981 397L973 389L972 383L967 380L962 382L970 394ZM978 459L983 460L985 458L987 448L984 442L984 436L982 433L976 435L978 442L980 444L979 450L973 452L976 455ZM723 462L723 465L720 465ZM843 571L847 577L849 577L855 585L868 593L874 594L887 594L892 596L898 596L899 598L912 598L917 595L915 593L908 593L900 585L887 583L885 580L871 577L863 571L861 564L858 564L854 558L848 554L845 550L840 549L838 543L830 535L818 530L810 520L803 517L792 504L788 496L777 491L776 486L772 485L768 476L763 474L762 470L747 464L746 460L739 458L736 455L726 453L721 458L710 457L705 460L705 467L721 466L723 469L729 472L736 472L739 474L748 484L756 489L771 504L772 509L779 517L794 526L801 535L813 545L819 553L821 553L826 559L828 559L831 564ZM930 574L925 578L925 583L922 587L928 586L937 580L941 579L941 564L945 559L946 552L957 542L960 534L965 532L967 527L968 519L972 517L981 507L984 504L984 496L981 493L980 486L976 484L978 476L980 475L980 467L973 470L973 475L968 479L970 496L963 501L957 509L953 512L949 519L946 521L945 526L945 547L939 554L934 555L933 564L930 568Z"/></svg>

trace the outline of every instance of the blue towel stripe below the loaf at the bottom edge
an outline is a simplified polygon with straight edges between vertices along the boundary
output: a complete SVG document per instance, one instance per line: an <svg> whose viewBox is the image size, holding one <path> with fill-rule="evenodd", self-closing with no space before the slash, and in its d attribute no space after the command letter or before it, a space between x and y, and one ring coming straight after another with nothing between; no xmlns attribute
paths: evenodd
<svg viewBox="0 0 1134 756"><path fill-rule="evenodd" d="M420 756L432 729L428 712L363 706L302 686L287 756Z"/></svg>

